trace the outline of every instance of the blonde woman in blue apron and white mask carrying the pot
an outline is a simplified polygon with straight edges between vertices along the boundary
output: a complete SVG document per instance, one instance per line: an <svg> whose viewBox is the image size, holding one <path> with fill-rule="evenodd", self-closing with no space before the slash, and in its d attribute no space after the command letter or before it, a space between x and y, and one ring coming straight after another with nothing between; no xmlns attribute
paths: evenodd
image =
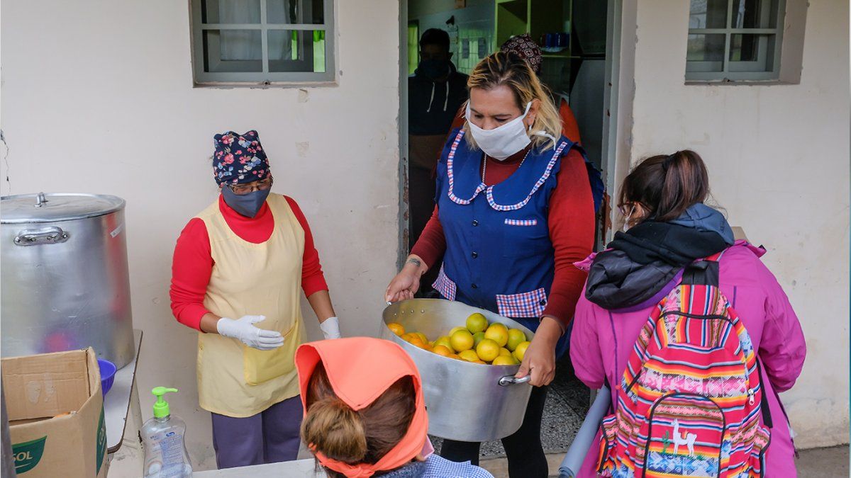
<svg viewBox="0 0 851 478"><path fill-rule="evenodd" d="M488 56L467 87L466 122L449 135L437 166L437 207L386 299L413 298L420 277L439 266L434 287L443 299L535 331L517 373L531 375L534 389L523 425L502 443L511 477L545 477L540 421L585 282L573 263L593 246L591 185L584 153L561 136L550 95L520 56ZM478 453L479 443L462 441L443 441L441 450L473 464Z"/></svg>

